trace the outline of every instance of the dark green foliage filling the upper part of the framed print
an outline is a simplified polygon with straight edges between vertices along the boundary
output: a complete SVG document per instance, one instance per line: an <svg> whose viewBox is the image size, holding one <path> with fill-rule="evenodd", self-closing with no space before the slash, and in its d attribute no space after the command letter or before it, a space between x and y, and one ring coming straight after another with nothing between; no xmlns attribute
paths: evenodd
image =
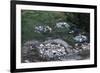
<svg viewBox="0 0 100 73"><path fill-rule="evenodd" d="M73 35L68 34L69 29L55 28L60 21L69 23L89 33L90 15L88 13L52 12L52 11L21 11L21 34L22 43L28 40L45 40L47 37L61 37L67 42L74 42ZM52 28L51 33L36 33L36 25L48 25Z"/></svg>

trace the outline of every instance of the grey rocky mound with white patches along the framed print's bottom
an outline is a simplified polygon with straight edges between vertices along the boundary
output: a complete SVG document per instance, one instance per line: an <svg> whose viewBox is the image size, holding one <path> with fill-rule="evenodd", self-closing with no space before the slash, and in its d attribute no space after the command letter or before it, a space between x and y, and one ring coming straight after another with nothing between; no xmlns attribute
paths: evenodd
<svg viewBox="0 0 100 73"><path fill-rule="evenodd" d="M66 61L79 60L84 55L83 52L90 50L89 44L76 44L75 47L70 46L62 39L40 41L27 41L22 47L24 62L40 62L40 61Z"/></svg>

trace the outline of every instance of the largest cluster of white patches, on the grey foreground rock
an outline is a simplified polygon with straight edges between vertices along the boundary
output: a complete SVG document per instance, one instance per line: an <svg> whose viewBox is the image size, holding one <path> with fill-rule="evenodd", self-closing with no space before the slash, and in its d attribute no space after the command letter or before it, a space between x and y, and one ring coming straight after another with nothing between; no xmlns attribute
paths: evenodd
<svg viewBox="0 0 100 73"><path fill-rule="evenodd" d="M41 44L40 44L41 46ZM60 43L45 43L43 47L40 49L40 53L42 54L42 57L48 57L50 58L58 58L62 55L66 54L65 47L62 46Z"/></svg>

